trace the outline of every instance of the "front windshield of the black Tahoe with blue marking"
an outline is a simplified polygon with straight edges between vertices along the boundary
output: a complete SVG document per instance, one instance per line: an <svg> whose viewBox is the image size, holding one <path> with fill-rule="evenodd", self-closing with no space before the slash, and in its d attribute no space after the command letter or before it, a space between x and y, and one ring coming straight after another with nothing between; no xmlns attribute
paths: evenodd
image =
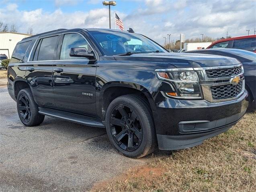
<svg viewBox="0 0 256 192"><path fill-rule="evenodd" d="M152 40L134 33L90 31L107 56L126 53L167 52Z"/></svg>

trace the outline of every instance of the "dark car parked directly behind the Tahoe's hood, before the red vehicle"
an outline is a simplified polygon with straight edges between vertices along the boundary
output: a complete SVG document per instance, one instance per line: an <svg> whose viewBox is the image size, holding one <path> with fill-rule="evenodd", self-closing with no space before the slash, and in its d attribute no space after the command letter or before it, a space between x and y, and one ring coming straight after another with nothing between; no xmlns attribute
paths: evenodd
<svg viewBox="0 0 256 192"><path fill-rule="evenodd" d="M241 49L205 49L188 53L222 55L238 59L244 67L245 88L248 91L248 101L256 108L256 53Z"/></svg>

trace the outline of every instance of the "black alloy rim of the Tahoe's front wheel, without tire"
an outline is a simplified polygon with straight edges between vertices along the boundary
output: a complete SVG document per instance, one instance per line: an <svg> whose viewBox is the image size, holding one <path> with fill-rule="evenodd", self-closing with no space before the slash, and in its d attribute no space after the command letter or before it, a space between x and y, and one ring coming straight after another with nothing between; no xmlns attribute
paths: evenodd
<svg viewBox="0 0 256 192"><path fill-rule="evenodd" d="M111 113L111 134L125 151L135 151L141 144L143 129L138 115L129 106L120 104Z"/></svg>

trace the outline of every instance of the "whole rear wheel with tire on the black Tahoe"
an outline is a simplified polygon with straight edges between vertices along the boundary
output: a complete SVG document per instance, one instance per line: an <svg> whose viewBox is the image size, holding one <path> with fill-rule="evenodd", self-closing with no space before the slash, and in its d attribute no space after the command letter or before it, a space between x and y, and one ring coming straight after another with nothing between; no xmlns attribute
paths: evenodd
<svg viewBox="0 0 256 192"><path fill-rule="evenodd" d="M20 121L25 126L40 125L45 118L44 115L38 113L38 106L29 88L22 89L18 92L17 110Z"/></svg>

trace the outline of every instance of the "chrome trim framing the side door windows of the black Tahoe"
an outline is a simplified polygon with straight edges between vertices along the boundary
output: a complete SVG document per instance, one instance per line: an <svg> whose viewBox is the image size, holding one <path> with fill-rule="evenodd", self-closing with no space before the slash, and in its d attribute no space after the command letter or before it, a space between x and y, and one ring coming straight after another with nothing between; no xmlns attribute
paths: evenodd
<svg viewBox="0 0 256 192"><path fill-rule="evenodd" d="M72 34L72 33L79 34L79 35L81 35L81 36L86 40L86 42L88 43L88 45L90 46L90 48L91 48L92 51L94 52L94 55L95 55L95 57L96 57L95 60L89 60L89 59L63 59L63 60L61 60L61 59L56 59L56 60L30 61L30 57L31 57L32 51L34 50L35 44L37 43L37 41L38 41L39 39L48 38L48 37L53 37L53 36L58 36L58 35L63 35L63 34ZM92 48L92 46L90 45L90 43L87 41L87 39L86 39L82 34L80 34L80 33L78 33L78 32L66 32L66 33L52 34L52 35L49 35L49 36L43 36L43 37L37 38L37 40L35 41L35 43L34 43L32 49L31 49L31 51L30 51L30 53L29 53L29 58L28 58L27 62L28 62L28 63L31 63L31 62L47 62L47 61L48 61L48 62L49 62L49 61L96 61L97 59L98 59L98 57L97 57L96 52L94 51L94 49Z"/></svg>

